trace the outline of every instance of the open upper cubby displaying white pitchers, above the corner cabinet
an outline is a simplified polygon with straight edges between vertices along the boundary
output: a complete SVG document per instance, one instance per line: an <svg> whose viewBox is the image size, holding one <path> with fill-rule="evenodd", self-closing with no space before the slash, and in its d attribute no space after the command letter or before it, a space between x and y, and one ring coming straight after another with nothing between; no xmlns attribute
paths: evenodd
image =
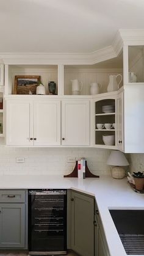
<svg viewBox="0 0 144 256"><path fill-rule="evenodd" d="M64 95L95 95L107 92L110 75L123 76L123 53L95 65L64 65ZM118 78L119 82L119 78ZM93 83L96 90L92 89ZM120 87L123 81L120 83ZM94 85L95 86L95 85Z"/></svg>

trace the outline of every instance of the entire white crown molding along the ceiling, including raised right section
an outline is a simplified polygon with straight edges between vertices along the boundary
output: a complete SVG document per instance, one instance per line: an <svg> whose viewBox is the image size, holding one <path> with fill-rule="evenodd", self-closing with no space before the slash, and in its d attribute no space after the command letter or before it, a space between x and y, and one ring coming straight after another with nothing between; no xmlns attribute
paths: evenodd
<svg viewBox="0 0 144 256"><path fill-rule="evenodd" d="M0 53L0 63L13 65L93 65L120 54L123 45L144 45L144 29L120 29L112 45L93 53Z"/></svg>

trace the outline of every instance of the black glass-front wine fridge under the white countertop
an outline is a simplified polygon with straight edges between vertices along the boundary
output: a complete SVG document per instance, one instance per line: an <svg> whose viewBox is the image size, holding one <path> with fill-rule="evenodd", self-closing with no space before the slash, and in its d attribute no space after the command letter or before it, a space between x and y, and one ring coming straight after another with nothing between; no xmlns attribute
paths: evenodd
<svg viewBox="0 0 144 256"><path fill-rule="evenodd" d="M67 189L29 189L29 254L67 254Z"/></svg>

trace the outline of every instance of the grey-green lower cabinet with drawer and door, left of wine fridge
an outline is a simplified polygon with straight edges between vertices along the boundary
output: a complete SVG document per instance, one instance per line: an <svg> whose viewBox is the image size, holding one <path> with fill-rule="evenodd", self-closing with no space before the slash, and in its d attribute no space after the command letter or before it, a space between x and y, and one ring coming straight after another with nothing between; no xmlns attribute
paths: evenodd
<svg viewBox="0 0 144 256"><path fill-rule="evenodd" d="M27 249L26 191L0 191L0 248ZM5 201L5 202L3 202Z"/></svg>

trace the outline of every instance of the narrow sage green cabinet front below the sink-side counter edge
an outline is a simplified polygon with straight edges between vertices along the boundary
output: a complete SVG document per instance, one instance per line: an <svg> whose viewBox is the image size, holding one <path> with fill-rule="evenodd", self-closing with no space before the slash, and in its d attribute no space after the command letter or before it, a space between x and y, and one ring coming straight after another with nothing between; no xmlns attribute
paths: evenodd
<svg viewBox="0 0 144 256"><path fill-rule="evenodd" d="M97 206L95 210L95 256L110 256Z"/></svg>

